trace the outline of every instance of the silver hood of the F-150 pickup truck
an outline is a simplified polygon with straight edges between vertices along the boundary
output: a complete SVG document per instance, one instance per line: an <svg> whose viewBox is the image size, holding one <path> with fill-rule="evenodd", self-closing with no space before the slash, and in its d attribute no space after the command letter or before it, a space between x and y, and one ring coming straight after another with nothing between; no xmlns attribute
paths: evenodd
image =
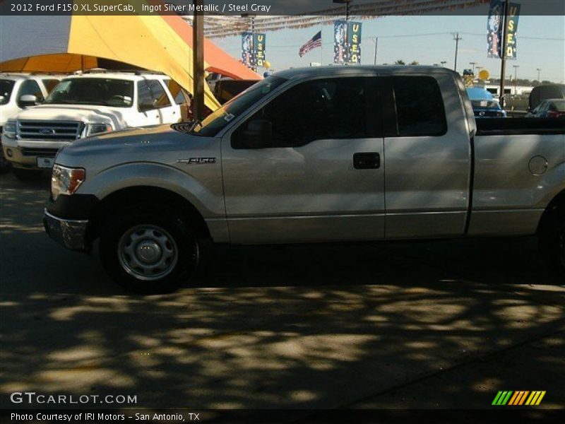
<svg viewBox="0 0 565 424"><path fill-rule="evenodd" d="M199 151L206 155L210 137L174 131L169 124L114 131L75 141L59 151L56 163L70 167L108 167L133 162L176 163Z"/></svg>

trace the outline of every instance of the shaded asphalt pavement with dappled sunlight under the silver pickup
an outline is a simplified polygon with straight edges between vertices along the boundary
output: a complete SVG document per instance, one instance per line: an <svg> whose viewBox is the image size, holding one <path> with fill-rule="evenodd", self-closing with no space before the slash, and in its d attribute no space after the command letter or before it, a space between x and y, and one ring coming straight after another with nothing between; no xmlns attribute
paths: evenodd
<svg viewBox="0 0 565 424"><path fill-rule="evenodd" d="M490 408L499 390L544 390L539 408L565 408L565 286L533 238L221 247L191 285L143 297L96 249L49 240L48 188L0 175L0 407L35 391L142 408Z"/></svg>

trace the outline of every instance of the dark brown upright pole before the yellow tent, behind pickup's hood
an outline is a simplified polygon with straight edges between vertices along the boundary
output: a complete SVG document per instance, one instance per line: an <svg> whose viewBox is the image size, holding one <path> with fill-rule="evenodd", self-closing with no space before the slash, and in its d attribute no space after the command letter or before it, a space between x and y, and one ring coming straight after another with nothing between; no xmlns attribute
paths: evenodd
<svg viewBox="0 0 565 424"><path fill-rule="evenodd" d="M204 112L204 15L203 0L194 1L194 18L192 20L192 41L193 41L193 101L194 119L203 119ZM200 6L200 7L198 7ZM197 11L200 9L200 11Z"/></svg>

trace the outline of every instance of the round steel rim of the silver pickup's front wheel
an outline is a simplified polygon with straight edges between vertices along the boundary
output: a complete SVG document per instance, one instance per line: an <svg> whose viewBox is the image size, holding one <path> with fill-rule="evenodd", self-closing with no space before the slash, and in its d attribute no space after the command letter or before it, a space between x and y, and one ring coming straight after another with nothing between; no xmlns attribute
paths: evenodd
<svg viewBox="0 0 565 424"><path fill-rule="evenodd" d="M124 232L118 243L121 267L143 281L169 275L177 265L178 252L174 238L157 225L136 225Z"/></svg>

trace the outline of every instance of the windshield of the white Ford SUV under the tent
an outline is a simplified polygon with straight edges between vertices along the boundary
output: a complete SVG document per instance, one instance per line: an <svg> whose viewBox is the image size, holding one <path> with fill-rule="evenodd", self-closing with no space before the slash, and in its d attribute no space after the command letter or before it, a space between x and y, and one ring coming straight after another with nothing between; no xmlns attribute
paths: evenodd
<svg viewBox="0 0 565 424"><path fill-rule="evenodd" d="M44 103L131 107L133 81L114 78L69 78L62 80Z"/></svg>

